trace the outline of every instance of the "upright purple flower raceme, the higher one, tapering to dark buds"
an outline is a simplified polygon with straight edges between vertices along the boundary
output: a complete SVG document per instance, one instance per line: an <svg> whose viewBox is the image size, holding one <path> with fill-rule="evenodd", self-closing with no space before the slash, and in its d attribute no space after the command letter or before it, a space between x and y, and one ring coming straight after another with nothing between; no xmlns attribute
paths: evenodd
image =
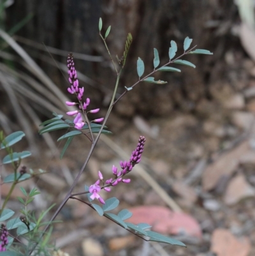
<svg viewBox="0 0 255 256"><path fill-rule="evenodd" d="M75 124L75 128L77 128L78 130L82 130L82 127L84 126L85 121L82 118L81 112L84 112L84 114L87 114L85 110L89 106L89 103L91 102L91 100L87 98L86 102L82 103L82 97L84 96L84 87L79 87L79 82L77 79L77 71L75 70L75 62L73 61L73 54L71 53L68 54L68 75L69 75L68 81L70 83L70 87L68 87L68 93L76 94L78 103L66 102L66 105L73 106L78 104L80 110L69 111L66 114L68 114L68 116L77 115L73 123ZM96 114L98 112L99 112L99 109L92 109L88 113ZM92 122L101 123L103 119L104 118L94 119L94 121Z"/></svg>

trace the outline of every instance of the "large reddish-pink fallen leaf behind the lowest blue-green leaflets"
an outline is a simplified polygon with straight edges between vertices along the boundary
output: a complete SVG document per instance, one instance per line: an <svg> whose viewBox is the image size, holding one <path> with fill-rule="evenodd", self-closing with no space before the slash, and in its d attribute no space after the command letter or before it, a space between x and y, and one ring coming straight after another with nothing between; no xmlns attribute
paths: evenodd
<svg viewBox="0 0 255 256"><path fill-rule="evenodd" d="M138 206L129 209L133 216L128 222L148 223L152 230L162 234L185 234L201 238L198 222L186 213L175 213L163 206Z"/></svg>

